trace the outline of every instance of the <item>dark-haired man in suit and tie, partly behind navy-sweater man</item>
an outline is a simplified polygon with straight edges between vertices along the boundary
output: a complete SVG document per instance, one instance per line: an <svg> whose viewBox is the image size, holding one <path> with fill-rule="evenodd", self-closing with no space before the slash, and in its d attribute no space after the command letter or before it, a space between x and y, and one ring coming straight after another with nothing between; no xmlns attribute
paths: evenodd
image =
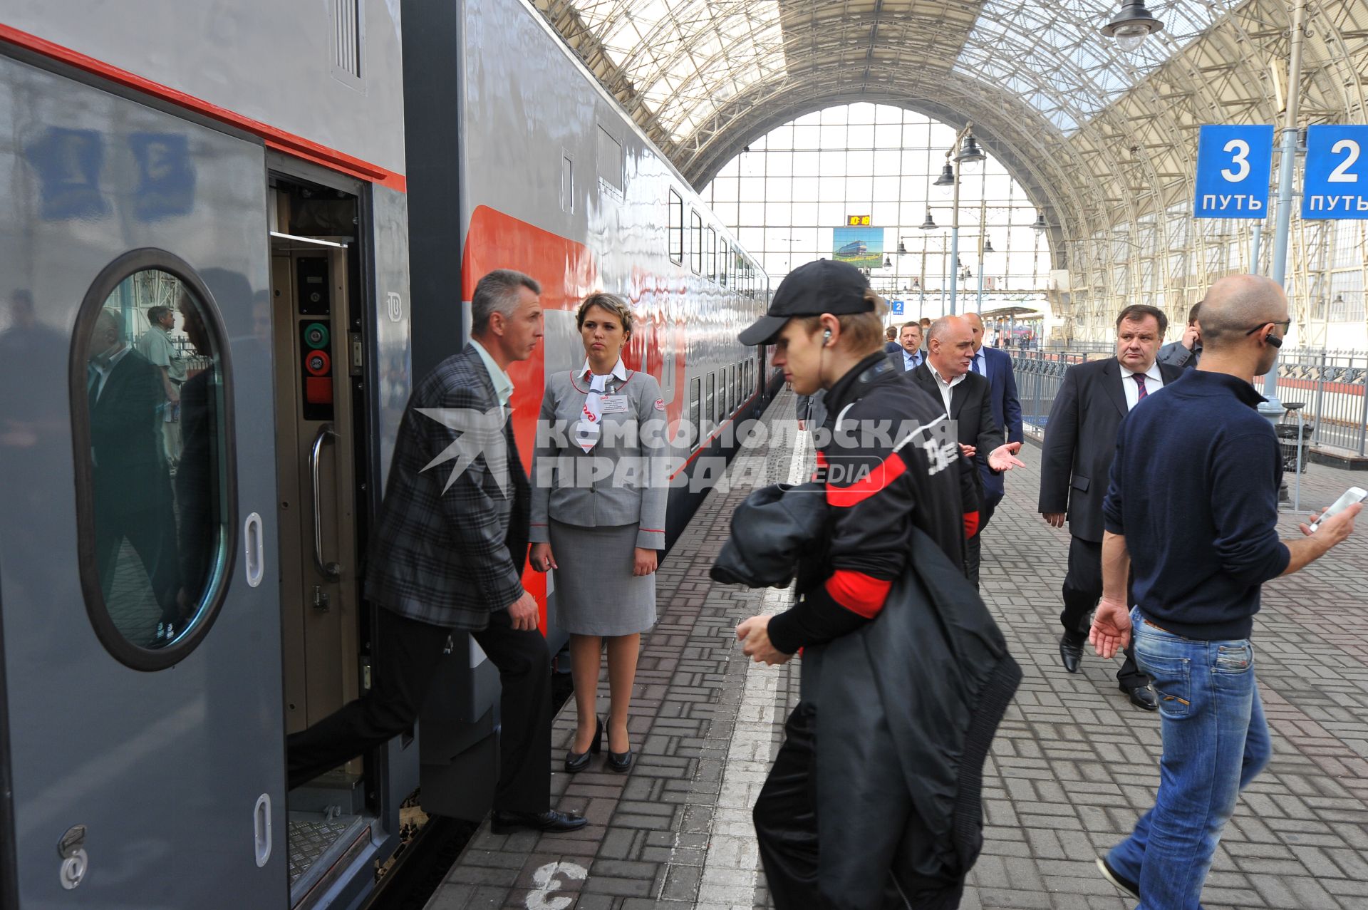
<svg viewBox="0 0 1368 910"><path fill-rule="evenodd" d="M1116 356L1070 367L1045 424L1040 464L1040 512L1056 528L1068 520L1068 573L1064 576L1064 634L1059 655L1078 672L1088 640L1088 614L1103 594L1103 499L1116 453L1116 430L1130 409L1182 375L1181 367L1155 360L1168 319L1153 307L1133 305L1116 317ZM1131 703L1155 710L1149 677L1130 651L1116 673Z"/></svg>

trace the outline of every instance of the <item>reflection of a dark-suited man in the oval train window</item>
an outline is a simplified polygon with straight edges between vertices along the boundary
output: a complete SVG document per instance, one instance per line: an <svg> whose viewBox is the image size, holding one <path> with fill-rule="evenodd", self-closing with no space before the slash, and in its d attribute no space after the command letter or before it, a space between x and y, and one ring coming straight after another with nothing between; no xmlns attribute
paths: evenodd
<svg viewBox="0 0 1368 910"><path fill-rule="evenodd" d="M161 609L153 635L134 643L156 647L181 628L181 588L171 475L161 457L161 378L146 357L129 348L119 317L101 311L90 330L86 401L94 460L94 564L105 608L120 631L131 632L127 603L116 598L114 579L123 542L133 546Z"/></svg>

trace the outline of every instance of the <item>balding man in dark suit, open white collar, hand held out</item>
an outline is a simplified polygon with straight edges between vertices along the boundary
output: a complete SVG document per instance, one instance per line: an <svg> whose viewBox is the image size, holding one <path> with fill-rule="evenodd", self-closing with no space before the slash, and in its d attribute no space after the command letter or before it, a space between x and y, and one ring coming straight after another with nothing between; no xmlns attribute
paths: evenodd
<svg viewBox="0 0 1368 910"><path fill-rule="evenodd" d="M993 420L988 380L969 371L973 359L974 333L969 323L959 316L943 316L932 323L926 361L908 375L955 421L963 456L959 465L964 505L964 573L977 587L979 513L984 506L984 482L977 464L979 453L996 473L1025 465L1014 457L1022 443L1004 442L1003 431Z"/></svg>

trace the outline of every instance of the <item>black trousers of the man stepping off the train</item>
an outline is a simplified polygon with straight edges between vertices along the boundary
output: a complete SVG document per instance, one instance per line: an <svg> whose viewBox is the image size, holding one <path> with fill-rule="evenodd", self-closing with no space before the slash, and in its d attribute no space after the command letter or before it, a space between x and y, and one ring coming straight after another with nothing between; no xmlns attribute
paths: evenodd
<svg viewBox="0 0 1368 910"><path fill-rule="evenodd" d="M451 629L380 609L375 684L361 698L290 735L290 787L383 746L417 720ZM551 806L551 658L538 629L517 631L508 610L471 632L499 669L499 780L494 807L546 811Z"/></svg>

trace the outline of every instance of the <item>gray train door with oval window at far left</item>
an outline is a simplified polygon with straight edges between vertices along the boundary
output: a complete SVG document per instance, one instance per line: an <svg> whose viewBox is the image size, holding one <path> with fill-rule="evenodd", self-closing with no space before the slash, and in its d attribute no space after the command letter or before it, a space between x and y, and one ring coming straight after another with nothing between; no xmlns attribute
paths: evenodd
<svg viewBox="0 0 1368 910"><path fill-rule="evenodd" d="M285 907L265 151L0 85L0 905Z"/></svg>

